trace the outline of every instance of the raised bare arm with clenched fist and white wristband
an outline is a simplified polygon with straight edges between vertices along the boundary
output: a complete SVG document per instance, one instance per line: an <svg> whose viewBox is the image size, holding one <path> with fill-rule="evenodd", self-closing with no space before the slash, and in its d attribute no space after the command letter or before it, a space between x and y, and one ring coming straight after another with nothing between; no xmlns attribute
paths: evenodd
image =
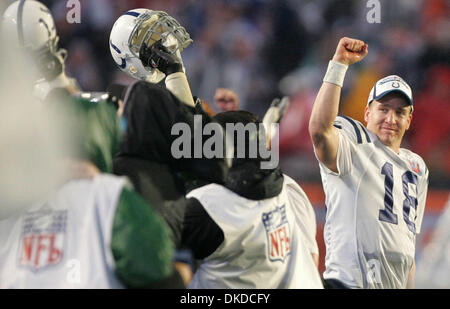
<svg viewBox="0 0 450 309"><path fill-rule="evenodd" d="M314 102L309 119L309 134L318 159L333 172L337 169L338 131L333 122L338 115L339 98L349 65L361 61L368 52L363 41L342 38L330 61L322 87Z"/></svg>

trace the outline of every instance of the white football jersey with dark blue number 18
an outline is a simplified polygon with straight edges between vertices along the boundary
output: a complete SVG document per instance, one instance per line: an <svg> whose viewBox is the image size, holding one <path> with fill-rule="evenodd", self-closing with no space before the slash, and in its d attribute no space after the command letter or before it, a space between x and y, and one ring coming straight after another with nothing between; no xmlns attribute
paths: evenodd
<svg viewBox="0 0 450 309"><path fill-rule="evenodd" d="M320 163L326 196L325 279L351 288L405 288L428 189L420 156L383 145L360 122L342 116L337 168Z"/></svg>

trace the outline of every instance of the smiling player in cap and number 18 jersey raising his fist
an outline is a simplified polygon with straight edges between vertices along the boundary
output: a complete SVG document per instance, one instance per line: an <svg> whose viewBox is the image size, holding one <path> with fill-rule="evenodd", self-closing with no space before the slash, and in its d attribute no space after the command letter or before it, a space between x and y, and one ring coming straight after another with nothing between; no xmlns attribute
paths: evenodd
<svg viewBox="0 0 450 309"><path fill-rule="evenodd" d="M400 148L413 113L402 78L391 75L373 86L366 127L338 116L347 68L367 53L363 41L339 41L309 122L326 195L323 276L330 287L406 288L413 281L428 169L419 155Z"/></svg>

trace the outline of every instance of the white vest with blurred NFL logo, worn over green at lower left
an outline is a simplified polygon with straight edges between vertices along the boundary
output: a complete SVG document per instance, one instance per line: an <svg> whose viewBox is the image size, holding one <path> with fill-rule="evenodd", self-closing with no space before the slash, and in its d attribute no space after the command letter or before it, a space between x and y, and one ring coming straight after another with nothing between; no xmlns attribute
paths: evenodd
<svg viewBox="0 0 450 309"><path fill-rule="evenodd" d="M111 231L125 178L72 180L0 221L0 288L122 288Z"/></svg>

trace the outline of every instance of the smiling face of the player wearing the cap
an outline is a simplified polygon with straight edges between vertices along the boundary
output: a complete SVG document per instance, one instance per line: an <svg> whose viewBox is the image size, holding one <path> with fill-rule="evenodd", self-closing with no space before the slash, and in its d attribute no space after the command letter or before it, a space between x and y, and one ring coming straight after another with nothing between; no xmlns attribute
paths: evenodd
<svg viewBox="0 0 450 309"><path fill-rule="evenodd" d="M386 146L398 152L412 120L411 106L402 95L388 94L366 107L367 128Z"/></svg>

